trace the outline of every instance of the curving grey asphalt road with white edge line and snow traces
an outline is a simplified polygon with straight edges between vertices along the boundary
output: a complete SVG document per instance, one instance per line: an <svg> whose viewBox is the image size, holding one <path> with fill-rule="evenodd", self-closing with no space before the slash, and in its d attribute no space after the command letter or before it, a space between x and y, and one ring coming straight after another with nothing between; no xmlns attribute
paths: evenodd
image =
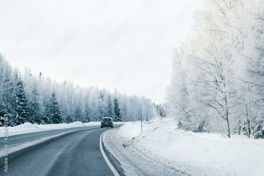
<svg viewBox="0 0 264 176"><path fill-rule="evenodd" d="M114 125L114 128L120 126ZM8 145L15 146L66 131L85 129L8 154L8 173L4 172L4 159L1 157L0 175L113 175L99 145L101 134L110 128L94 127L97 126L8 137ZM0 142L4 144L3 141Z"/></svg>

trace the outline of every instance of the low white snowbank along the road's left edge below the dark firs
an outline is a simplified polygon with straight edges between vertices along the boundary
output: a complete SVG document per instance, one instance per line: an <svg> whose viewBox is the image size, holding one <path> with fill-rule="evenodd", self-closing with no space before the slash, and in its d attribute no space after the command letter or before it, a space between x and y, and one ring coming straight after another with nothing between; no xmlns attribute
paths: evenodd
<svg viewBox="0 0 264 176"><path fill-rule="evenodd" d="M125 123L134 123L134 122L125 122ZM114 125L115 124L123 124L123 122L114 122ZM73 122L73 123L60 123L60 124L48 124L48 125L38 125L38 124L32 124L26 122L22 125L8 127L8 136L40 132L40 131L48 131L48 130L75 128L82 126L95 126L95 125L101 125L101 122L88 122L88 123ZM0 127L0 131L4 131L4 127ZM4 137L4 133L1 133L0 137Z"/></svg>

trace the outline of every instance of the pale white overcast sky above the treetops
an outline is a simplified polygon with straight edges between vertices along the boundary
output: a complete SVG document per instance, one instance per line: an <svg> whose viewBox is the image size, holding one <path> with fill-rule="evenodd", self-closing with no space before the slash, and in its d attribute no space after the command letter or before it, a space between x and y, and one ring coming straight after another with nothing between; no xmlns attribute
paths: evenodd
<svg viewBox="0 0 264 176"><path fill-rule="evenodd" d="M164 74L171 69L172 48L180 46L179 41L184 41L190 33L192 12L199 9L200 4L197 0L152 1L105 0L92 16L90 12L103 0L2 0L0 53L21 71L28 66L34 74L41 71L57 81L74 77L74 84L81 86L105 86L111 92L116 87L127 95L143 94L156 103L162 102L165 86L169 85L169 78ZM152 3L145 7L147 2ZM192 6L188 6L190 3ZM186 14L179 19L182 10ZM44 20L41 22L39 18ZM117 30L127 20L131 24L127 23L120 34ZM71 34L72 29L77 32L67 41L64 37ZM153 38L161 31L166 34L153 45ZM26 33L30 35L15 46ZM117 38L103 50L102 45L115 34ZM60 42L63 46L49 59L48 54ZM151 49L136 61L135 56L148 45ZM78 75L77 70L83 72ZM121 78L115 80L118 74ZM155 87L160 79L162 83ZM115 85L110 86L111 81L116 82ZM154 92L148 94L153 86Z"/></svg>

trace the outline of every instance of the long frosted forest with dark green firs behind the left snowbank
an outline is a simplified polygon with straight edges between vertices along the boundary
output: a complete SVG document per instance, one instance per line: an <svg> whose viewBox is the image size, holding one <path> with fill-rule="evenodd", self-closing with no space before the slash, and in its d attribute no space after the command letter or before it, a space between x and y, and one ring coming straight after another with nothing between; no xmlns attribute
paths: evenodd
<svg viewBox="0 0 264 176"><path fill-rule="evenodd" d="M80 87L64 80L57 82L41 72L34 75L30 68L20 72L0 53L0 126L8 114L10 126L25 122L37 124L154 119L155 104L145 96L110 93L97 86Z"/></svg>

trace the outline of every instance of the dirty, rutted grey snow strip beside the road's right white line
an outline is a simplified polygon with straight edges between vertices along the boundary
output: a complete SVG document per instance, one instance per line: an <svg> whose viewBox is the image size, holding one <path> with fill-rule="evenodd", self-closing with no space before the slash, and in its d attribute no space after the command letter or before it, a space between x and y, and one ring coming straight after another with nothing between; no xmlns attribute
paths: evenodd
<svg viewBox="0 0 264 176"><path fill-rule="evenodd" d="M111 155L118 160L118 164L115 168L117 170L122 170L124 175L188 176L184 172L181 172L179 170L164 168L163 165L155 162L154 160L150 160L131 146L124 148L122 146L123 141L116 132L117 129L106 131L106 133L102 136L102 141L106 150L109 151Z"/></svg>

